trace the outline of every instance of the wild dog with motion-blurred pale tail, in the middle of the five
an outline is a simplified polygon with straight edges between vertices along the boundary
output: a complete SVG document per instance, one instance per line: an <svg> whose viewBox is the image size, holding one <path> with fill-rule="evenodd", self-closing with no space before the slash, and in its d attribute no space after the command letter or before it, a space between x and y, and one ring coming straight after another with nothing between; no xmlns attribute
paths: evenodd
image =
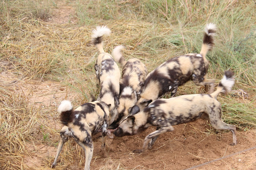
<svg viewBox="0 0 256 170"><path fill-rule="evenodd" d="M129 109L136 105L148 74L148 69L139 59L133 58L128 61L124 59L121 53L123 48L124 46L118 45L112 52L112 56L121 64L123 71L120 80L118 117L110 125L110 128L116 128L127 117Z"/></svg>

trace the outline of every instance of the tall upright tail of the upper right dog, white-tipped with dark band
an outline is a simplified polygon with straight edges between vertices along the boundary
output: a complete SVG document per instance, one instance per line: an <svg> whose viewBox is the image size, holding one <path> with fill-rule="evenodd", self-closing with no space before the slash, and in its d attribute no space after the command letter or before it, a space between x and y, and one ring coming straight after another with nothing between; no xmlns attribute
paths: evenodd
<svg viewBox="0 0 256 170"><path fill-rule="evenodd" d="M200 54L204 58L204 62L208 63L206 59L206 53L210 51L214 45L214 36L216 32L216 26L212 23L207 24L204 29L204 39Z"/></svg>

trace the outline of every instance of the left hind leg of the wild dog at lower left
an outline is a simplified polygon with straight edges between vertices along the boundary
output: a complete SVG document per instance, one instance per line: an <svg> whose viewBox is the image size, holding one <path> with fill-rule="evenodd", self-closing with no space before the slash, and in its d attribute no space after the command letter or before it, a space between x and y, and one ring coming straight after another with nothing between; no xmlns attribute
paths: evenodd
<svg viewBox="0 0 256 170"><path fill-rule="evenodd" d="M60 155L60 152L61 152L61 150L62 150L62 147L63 147L64 143L68 141L68 136L71 136L71 134L72 134L72 133L70 132L70 130L68 129L67 126L64 126L64 127L60 130L60 137L61 137L61 139L60 139L60 143L59 143L59 145L58 145L58 150L57 150L56 157L55 157L55 159L54 159L54 162L52 163L52 167L51 167L51 168L54 168L54 167L56 166L57 159L58 159L58 157L59 157L59 155Z"/></svg>

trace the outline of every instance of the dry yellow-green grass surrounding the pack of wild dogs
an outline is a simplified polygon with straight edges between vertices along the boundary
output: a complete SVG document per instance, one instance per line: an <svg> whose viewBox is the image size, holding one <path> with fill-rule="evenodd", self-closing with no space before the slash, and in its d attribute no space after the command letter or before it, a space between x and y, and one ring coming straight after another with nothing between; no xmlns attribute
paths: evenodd
<svg viewBox="0 0 256 170"><path fill-rule="evenodd" d="M52 20L60 5L73 10L70 16L75 17L74 22L58 24ZM223 119L243 130L255 128L255 10L251 0L1 1L0 169L31 168L25 164L25 155L36 154L26 146L58 145L61 125L52 121L58 121L59 102L73 97L74 106L78 106L88 101L91 92L96 95L94 60L98 51L90 43L90 36L98 25L112 30L105 41L106 52L111 53L116 45L126 45L126 59L139 58L152 71L172 57L198 53L204 26L215 23L218 30L214 49L207 55L208 77L219 81L230 69L236 77L233 89L248 94L218 97ZM55 105L38 107L22 89L22 85L34 81L59 83L64 95L56 98ZM189 82L178 89L177 95L201 92ZM68 154L60 168L70 168L70 160L84 160L80 148L72 152L72 142L64 148ZM52 158L42 159L50 166Z"/></svg>

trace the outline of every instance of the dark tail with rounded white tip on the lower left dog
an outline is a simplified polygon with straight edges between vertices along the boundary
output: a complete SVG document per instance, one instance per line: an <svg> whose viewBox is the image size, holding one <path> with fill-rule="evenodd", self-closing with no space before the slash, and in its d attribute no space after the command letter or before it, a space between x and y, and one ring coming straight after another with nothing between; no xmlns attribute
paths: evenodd
<svg viewBox="0 0 256 170"><path fill-rule="evenodd" d="M60 113L61 123L65 126L73 121L72 108L73 106L70 101L64 100L60 102L60 105L58 107L58 113Z"/></svg>

